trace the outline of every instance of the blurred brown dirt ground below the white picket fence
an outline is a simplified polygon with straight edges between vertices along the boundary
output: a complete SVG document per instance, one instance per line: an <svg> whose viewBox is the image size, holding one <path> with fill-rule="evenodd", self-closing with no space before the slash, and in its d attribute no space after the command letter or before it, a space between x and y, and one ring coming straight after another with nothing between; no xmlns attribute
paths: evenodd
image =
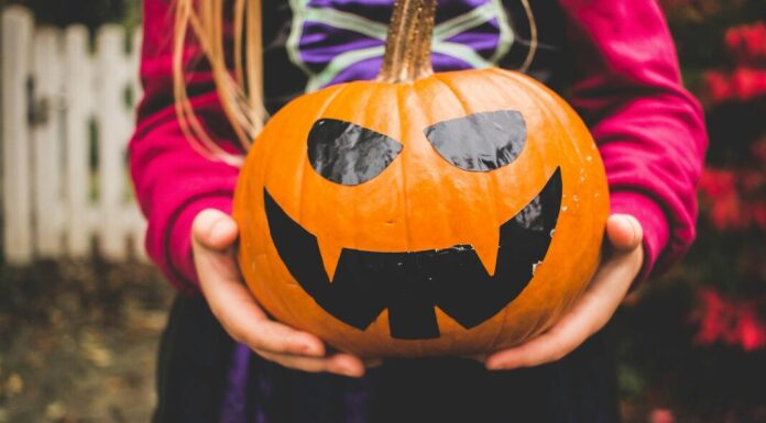
<svg viewBox="0 0 766 423"><path fill-rule="evenodd" d="M149 422L167 282L135 263L0 271L0 423Z"/></svg>

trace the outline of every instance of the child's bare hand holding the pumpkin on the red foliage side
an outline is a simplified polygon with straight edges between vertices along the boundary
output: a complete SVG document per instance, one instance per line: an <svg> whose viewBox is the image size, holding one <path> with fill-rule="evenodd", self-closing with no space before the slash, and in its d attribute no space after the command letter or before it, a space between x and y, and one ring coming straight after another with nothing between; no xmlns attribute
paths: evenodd
<svg viewBox="0 0 766 423"><path fill-rule="evenodd" d="M612 318L644 261L642 227L635 218L613 214L606 222L610 249L582 297L558 323L526 343L486 357L490 370L533 367L561 359Z"/></svg>

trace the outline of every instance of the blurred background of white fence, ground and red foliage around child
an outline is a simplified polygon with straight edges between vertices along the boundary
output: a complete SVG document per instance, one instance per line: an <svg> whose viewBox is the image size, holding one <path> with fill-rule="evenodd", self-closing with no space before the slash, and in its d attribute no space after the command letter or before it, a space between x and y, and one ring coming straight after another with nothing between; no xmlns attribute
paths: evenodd
<svg viewBox="0 0 766 423"><path fill-rule="evenodd" d="M711 143L697 243L609 329L623 415L763 423L766 1L660 3ZM140 2L0 10L0 423L147 422L172 292L142 253L123 165Z"/></svg>

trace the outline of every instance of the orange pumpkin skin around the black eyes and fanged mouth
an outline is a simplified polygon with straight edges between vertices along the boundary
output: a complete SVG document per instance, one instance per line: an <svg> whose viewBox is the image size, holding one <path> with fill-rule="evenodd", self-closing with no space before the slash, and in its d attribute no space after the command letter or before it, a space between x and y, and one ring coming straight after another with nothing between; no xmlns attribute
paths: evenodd
<svg viewBox="0 0 766 423"><path fill-rule="evenodd" d="M497 110L521 112L527 138L513 163L493 171L450 165L424 135L435 123ZM331 182L307 157L309 130L324 118L391 136L403 149L364 183ZM289 218L317 237L330 275L342 248L413 252L466 244L492 270L499 226L529 203L557 168L560 212L532 280L503 310L472 329L437 309L437 338L393 338L387 311L363 331L326 312L281 259L264 210L266 189ZM413 82L355 81L295 99L254 142L239 178L233 215L240 227L242 275L276 320L363 357L464 355L528 339L570 308L599 264L609 193L599 152L576 112L523 74L486 68Z"/></svg>

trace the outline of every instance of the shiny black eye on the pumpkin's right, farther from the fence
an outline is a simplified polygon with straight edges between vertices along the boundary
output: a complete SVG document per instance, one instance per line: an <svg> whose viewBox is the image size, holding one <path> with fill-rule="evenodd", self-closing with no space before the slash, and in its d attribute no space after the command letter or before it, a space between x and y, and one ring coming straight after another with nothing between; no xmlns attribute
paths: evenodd
<svg viewBox="0 0 766 423"><path fill-rule="evenodd" d="M450 119L424 131L439 155L452 166L490 171L511 164L526 143L526 122L515 110Z"/></svg>

